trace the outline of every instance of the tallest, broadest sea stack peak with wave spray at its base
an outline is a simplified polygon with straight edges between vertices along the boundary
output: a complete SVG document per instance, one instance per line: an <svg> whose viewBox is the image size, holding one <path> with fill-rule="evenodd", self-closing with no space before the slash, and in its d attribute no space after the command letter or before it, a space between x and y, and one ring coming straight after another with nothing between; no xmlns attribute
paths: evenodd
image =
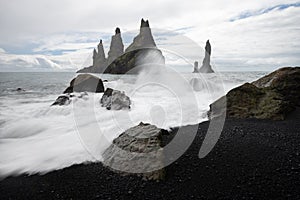
<svg viewBox="0 0 300 200"><path fill-rule="evenodd" d="M164 64L165 58L156 47L149 21L142 19L140 33L134 38L132 44L122 56L115 59L104 73L110 74L136 74L142 65Z"/></svg>

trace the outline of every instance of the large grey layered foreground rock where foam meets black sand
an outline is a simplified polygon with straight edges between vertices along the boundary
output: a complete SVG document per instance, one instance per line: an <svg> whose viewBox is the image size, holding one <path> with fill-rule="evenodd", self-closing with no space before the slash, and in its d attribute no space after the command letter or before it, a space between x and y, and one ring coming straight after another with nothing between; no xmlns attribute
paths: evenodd
<svg viewBox="0 0 300 200"><path fill-rule="evenodd" d="M140 123L122 133L103 153L103 163L120 172L130 175L135 171L146 180L163 180L162 135L167 131L154 125ZM149 169L158 170L148 172ZM120 171L120 170L122 171Z"/></svg>

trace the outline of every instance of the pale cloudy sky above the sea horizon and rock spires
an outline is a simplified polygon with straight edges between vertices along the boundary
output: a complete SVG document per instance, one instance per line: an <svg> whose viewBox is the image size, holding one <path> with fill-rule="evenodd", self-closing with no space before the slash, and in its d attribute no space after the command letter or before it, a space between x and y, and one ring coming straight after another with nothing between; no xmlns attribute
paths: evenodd
<svg viewBox="0 0 300 200"><path fill-rule="evenodd" d="M167 63L192 71L207 39L217 71L300 65L300 1L0 0L0 71L76 71L107 54L120 27L125 47L148 19Z"/></svg>

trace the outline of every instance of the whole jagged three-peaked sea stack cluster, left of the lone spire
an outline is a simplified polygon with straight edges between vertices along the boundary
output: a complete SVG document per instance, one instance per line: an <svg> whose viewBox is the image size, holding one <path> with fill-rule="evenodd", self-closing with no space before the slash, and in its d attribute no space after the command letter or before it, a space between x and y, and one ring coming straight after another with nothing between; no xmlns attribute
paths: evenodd
<svg viewBox="0 0 300 200"><path fill-rule="evenodd" d="M111 38L107 59L102 41L100 43L98 52L94 49L93 65L81 69L77 73L135 74L141 69L138 66L165 64L165 58L153 39L148 20L141 20L140 32L125 52L120 28L116 28L115 35ZM102 48L99 49L99 46Z"/></svg>

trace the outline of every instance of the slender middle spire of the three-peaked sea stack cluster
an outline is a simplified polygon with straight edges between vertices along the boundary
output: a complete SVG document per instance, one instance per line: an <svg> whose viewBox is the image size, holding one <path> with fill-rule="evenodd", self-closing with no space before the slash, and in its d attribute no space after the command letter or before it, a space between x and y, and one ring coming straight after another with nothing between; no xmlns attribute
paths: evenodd
<svg viewBox="0 0 300 200"><path fill-rule="evenodd" d="M124 44L121 37L120 28L116 28L115 35L111 37L110 50L108 52L107 63L111 64L116 58L124 53Z"/></svg>

